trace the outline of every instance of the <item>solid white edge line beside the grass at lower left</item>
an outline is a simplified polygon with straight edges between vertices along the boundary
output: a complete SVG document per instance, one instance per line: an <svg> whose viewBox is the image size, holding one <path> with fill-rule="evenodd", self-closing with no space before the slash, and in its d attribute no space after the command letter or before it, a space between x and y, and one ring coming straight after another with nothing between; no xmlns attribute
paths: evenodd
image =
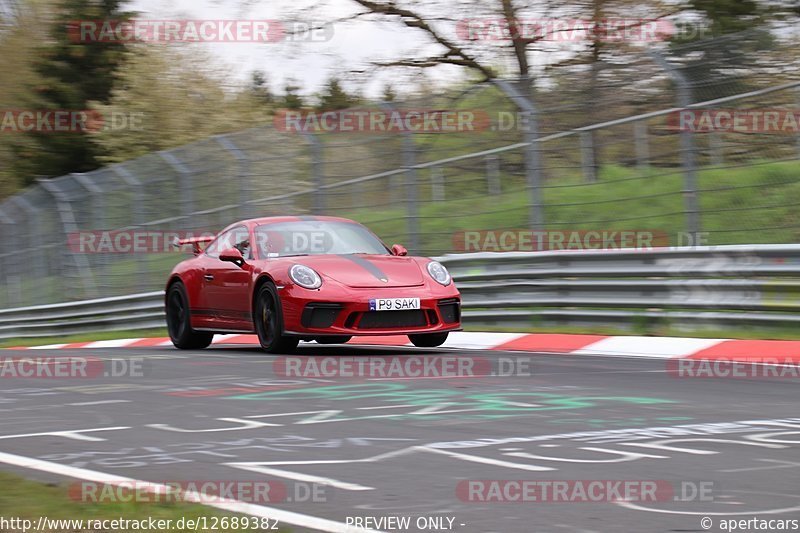
<svg viewBox="0 0 800 533"><path fill-rule="evenodd" d="M94 470L87 470L85 468L77 468L74 466L67 466L58 463L51 463L49 461L42 461L41 459L33 459L31 457L23 457L21 455L13 455L10 453L0 452L0 463L5 463L21 468L30 468L32 470L39 470L40 472L49 472L59 476L66 476L85 481L92 481L95 483L105 483L108 485L125 484L130 486L147 487L148 492L153 494L165 494L171 489L167 485L158 483L150 483L133 478L123 478L120 476L112 476L103 472ZM294 513L291 511L284 511L274 507L266 507L263 505L255 505L252 503L240 502L238 500L228 500L220 498L215 502L204 502L204 496L196 491L185 491L182 493L184 499L189 502L196 502L208 507L214 507L223 511L232 513L248 514L262 518L270 518L277 520L279 523L291 524L299 527L306 527L317 531L329 531L331 533L379 533L372 529L364 529L360 527L350 526L342 522L335 522L326 518L318 518L316 516L305 515L301 513Z"/></svg>

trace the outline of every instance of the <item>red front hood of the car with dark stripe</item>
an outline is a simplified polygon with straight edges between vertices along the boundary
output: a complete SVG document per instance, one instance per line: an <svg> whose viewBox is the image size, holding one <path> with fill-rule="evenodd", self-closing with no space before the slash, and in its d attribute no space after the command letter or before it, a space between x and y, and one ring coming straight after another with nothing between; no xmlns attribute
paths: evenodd
<svg viewBox="0 0 800 533"><path fill-rule="evenodd" d="M339 283L353 288L415 287L422 285L417 262L411 257L394 255L318 255L303 257L302 262Z"/></svg>

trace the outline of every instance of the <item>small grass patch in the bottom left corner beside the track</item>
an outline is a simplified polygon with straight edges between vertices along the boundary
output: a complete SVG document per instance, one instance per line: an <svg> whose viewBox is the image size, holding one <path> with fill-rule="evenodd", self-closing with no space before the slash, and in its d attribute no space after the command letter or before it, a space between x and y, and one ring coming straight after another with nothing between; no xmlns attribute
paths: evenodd
<svg viewBox="0 0 800 533"><path fill-rule="evenodd" d="M0 486L3 487L0 491L0 516L32 520L34 526L39 517L73 520L141 520L153 517L172 520L172 527L162 531L185 531L176 527L181 518L235 516L210 507L175 502L82 502L70 495L68 482L42 483L4 472L0 472ZM220 528L220 531L236 530Z"/></svg>

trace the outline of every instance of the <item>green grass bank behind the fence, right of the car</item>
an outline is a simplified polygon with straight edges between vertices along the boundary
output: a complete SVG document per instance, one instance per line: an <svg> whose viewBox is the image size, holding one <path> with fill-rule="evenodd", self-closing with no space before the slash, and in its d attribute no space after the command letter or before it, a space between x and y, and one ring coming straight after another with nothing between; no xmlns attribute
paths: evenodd
<svg viewBox="0 0 800 533"><path fill-rule="evenodd" d="M792 203L800 195L800 162L749 165L698 171L701 229L709 232L708 244L797 242L800 212ZM476 191L476 179L469 173L448 178L446 201L421 203L420 241L426 254L457 251L452 236L459 231L528 227L529 196L519 176L504 176L503 193L495 196ZM686 230L683 180L680 169L643 172L620 166L603 167L592 184L579 175L560 175L543 189L545 227L660 230L675 245L676 235ZM341 214L387 240L408 242L404 204Z"/></svg>

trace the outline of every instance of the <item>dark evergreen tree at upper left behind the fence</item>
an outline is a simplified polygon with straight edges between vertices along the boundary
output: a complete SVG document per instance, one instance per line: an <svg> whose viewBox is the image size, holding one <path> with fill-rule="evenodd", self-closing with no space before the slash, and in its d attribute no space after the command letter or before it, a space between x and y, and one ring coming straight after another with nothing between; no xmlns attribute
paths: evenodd
<svg viewBox="0 0 800 533"><path fill-rule="evenodd" d="M122 0L62 0L56 8L49 43L39 50L34 70L41 81L30 87L25 108L88 110L108 103L114 73L123 65L122 42L74 42L70 24L78 20L128 20ZM99 166L102 153L87 131L53 134L33 131L13 145L14 171L31 183L37 176L86 172Z"/></svg>

